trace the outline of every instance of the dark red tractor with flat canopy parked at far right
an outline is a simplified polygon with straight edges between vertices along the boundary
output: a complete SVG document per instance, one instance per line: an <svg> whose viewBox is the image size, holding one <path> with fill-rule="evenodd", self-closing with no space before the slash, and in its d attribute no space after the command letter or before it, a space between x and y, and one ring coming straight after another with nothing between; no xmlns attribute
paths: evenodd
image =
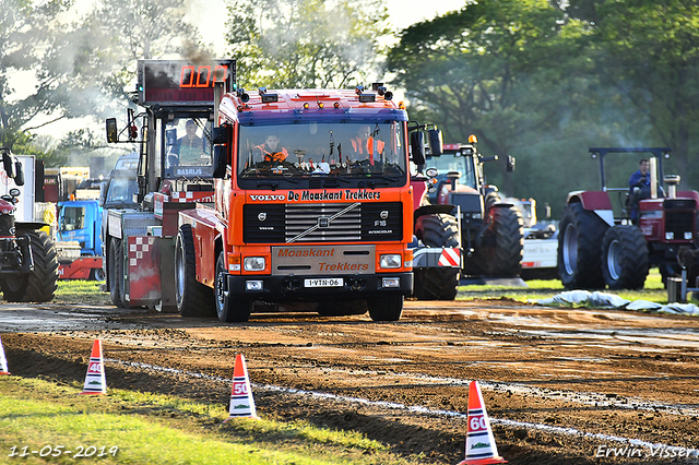
<svg viewBox="0 0 699 465"><path fill-rule="evenodd" d="M697 249L699 193L677 192L679 176L663 178L662 162L670 148L606 147L590 153L600 160L602 190L568 194L558 236L564 286L641 289L651 266L660 269L663 281L679 275L680 249ZM650 189L607 187L604 160L609 153L650 154ZM697 265L690 264L688 272L694 282Z"/></svg>

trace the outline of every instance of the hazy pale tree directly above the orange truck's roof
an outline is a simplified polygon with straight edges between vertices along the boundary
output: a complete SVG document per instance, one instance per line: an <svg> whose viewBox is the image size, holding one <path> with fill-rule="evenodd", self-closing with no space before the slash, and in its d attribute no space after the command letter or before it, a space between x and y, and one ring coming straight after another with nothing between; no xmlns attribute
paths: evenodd
<svg viewBox="0 0 699 465"><path fill-rule="evenodd" d="M244 85L344 87L378 72L378 40L388 34L378 0L245 0L226 23Z"/></svg>

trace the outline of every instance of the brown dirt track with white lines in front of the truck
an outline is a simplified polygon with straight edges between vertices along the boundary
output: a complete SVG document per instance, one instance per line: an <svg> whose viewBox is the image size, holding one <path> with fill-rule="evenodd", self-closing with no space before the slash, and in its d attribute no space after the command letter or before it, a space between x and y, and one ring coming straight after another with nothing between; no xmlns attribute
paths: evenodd
<svg viewBox="0 0 699 465"><path fill-rule="evenodd" d="M424 463L463 460L471 380L511 464L699 463L696 318L488 300L406 302L398 323L221 324L3 305L0 327L14 374L82 381L99 337L109 386L225 405L242 353L260 415L355 429Z"/></svg>

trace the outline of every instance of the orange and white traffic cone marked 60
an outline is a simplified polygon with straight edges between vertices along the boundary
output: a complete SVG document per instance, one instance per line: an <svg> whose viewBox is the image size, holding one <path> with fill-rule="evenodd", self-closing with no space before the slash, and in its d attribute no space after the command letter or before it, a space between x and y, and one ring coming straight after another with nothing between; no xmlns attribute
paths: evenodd
<svg viewBox="0 0 699 465"><path fill-rule="evenodd" d="M485 412L477 381L469 385L469 417L466 418L466 457L459 465L506 464L498 455L488 414Z"/></svg>

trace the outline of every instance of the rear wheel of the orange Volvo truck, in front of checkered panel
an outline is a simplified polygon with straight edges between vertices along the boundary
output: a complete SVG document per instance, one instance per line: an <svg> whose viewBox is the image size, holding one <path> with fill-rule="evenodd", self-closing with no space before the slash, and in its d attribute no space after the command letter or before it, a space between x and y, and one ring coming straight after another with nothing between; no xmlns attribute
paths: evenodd
<svg viewBox="0 0 699 465"><path fill-rule="evenodd" d="M175 294L182 317L215 317L214 293L196 277L194 237L190 225L182 225L175 243Z"/></svg>

